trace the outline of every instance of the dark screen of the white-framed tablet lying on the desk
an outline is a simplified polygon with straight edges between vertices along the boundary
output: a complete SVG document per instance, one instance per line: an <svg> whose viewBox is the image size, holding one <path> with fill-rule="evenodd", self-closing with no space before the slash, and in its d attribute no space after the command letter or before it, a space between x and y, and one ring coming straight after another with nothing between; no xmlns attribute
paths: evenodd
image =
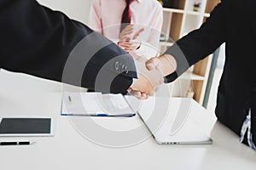
<svg viewBox="0 0 256 170"><path fill-rule="evenodd" d="M50 118L3 118L0 134L50 133Z"/></svg>

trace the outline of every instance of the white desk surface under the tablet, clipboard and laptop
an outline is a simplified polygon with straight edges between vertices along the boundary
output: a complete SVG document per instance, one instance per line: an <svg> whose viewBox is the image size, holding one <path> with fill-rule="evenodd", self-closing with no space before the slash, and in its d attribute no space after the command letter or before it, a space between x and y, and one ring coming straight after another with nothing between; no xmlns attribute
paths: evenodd
<svg viewBox="0 0 256 170"><path fill-rule="evenodd" d="M238 142L236 134L208 114L201 125L210 131L212 145L159 145L149 138L126 148L109 148L84 139L60 116L61 85L33 77L0 73L0 114L57 116L55 137L22 138L29 146L1 146L1 170L70 169L255 169L256 152ZM108 119L108 123L118 123ZM123 122L141 123L135 116ZM148 133L147 129L144 131ZM0 138L11 140L15 138ZM17 140L20 138L16 138Z"/></svg>

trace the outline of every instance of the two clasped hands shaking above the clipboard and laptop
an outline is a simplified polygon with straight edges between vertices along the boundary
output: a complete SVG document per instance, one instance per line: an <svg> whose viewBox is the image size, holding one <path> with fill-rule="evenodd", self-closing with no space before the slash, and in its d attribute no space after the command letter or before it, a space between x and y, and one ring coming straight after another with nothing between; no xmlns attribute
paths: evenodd
<svg viewBox="0 0 256 170"><path fill-rule="evenodd" d="M164 77L177 69L176 59L170 54L148 60L141 57L136 60L136 65L138 79L127 91L138 99L148 99L164 82Z"/></svg>

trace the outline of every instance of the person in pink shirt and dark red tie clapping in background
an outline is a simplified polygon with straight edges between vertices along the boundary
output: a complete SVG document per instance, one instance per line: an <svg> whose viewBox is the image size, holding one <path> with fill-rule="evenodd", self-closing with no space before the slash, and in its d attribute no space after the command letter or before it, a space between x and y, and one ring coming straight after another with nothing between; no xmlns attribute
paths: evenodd
<svg viewBox="0 0 256 170"><path fill-rule="evenodd" d="M137 57L157 55L163 10L156 0L93 0L89 26Z"/></svg>

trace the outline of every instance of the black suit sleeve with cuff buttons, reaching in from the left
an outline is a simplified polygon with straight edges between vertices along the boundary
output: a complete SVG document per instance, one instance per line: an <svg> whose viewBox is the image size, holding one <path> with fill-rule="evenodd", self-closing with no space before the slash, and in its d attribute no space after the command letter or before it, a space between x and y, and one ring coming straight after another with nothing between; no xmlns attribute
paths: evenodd
<svg viewBox="0 0 256 170"><path fill-rule="evenodd" d="M84 46L71 54L79 42ZM1 68L99 91L125 93L137 77L129 54L35 0L0 1L0 49ZM67 63L70 54L73 59ZM106 79L100 79L99 72Z"/></svg>

